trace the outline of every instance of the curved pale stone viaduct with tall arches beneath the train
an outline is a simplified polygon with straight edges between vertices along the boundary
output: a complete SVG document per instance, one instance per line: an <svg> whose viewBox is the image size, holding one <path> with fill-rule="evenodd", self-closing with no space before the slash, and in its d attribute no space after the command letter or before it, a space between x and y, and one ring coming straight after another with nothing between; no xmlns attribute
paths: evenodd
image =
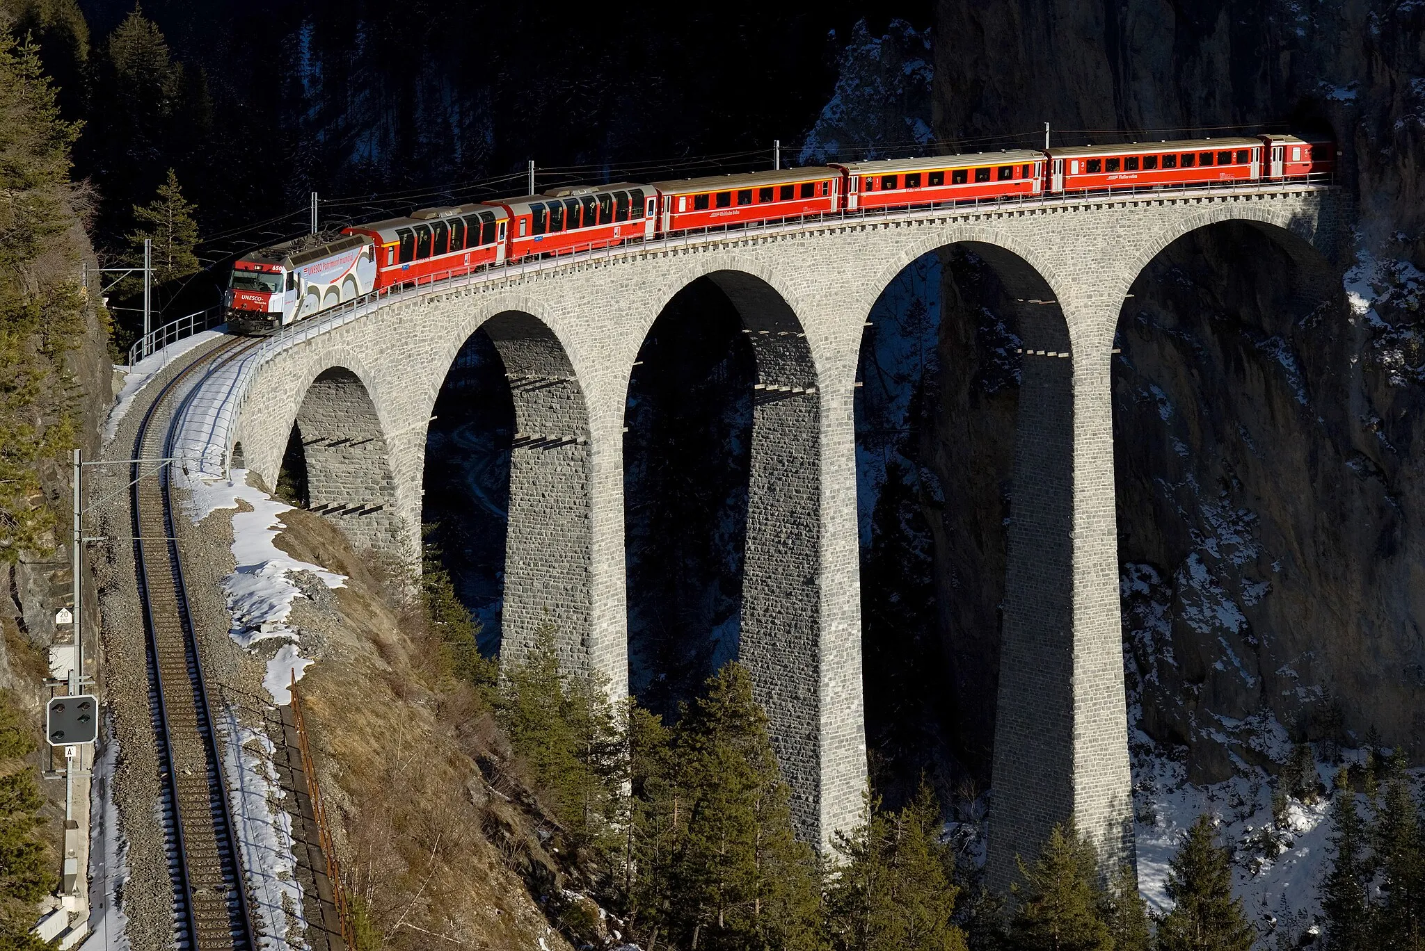
<svg viewBox="0 0 1425 951"><path fill-rule="evenodd" d="M627 692L623 426L630 372L697 279L752 342L751 485L740 656L767 706L801 834L861 813L854 387L872 305L912 261L969 245L1019 299L1025 359L995 736L990 880L1073 814L1104 868L1133 860L1116 557L1110 353L1134 279L1178 236L1255 222L1301 280L1332 280L1330 188L1037 198L778 224L544 261L359 302L272 337L201 384L180 451L238 456L275 484L294 423L311 505L358 544L415 559L426 424L484 330L516 406L503 643L557 625L570 666ZM1335 280L1340 293L1340 280ZM1006 434L1009 438L1009 434Z"/></svg>

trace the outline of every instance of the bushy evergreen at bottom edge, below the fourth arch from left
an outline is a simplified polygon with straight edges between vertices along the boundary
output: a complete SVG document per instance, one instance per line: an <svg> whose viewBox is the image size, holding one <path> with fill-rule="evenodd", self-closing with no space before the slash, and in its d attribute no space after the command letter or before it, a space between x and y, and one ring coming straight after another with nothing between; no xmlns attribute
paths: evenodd
<svg viewBox="0 0 1425 951"><path fill-rule="evenodd" d="M845 860L828 891L834 945L845 951L966 951L952 921L955 854L939 840L940 804L921 783L915 800L885 813L866 796L865 823L836 837Z"/></svg>

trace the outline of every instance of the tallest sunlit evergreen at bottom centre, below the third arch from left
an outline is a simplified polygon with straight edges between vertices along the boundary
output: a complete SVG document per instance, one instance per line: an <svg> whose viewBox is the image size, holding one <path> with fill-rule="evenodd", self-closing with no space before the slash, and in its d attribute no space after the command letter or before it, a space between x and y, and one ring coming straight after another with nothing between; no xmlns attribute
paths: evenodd
<svg viewBox="0 0 1425 951"><path fill-rule="evenodd" d="M684 710L653 811L665 850L644 873L661 887L643 895L650 944L657 934L660 947L705 951L825 947L817 858L792 836L767 715L738 663Z"/></svg>

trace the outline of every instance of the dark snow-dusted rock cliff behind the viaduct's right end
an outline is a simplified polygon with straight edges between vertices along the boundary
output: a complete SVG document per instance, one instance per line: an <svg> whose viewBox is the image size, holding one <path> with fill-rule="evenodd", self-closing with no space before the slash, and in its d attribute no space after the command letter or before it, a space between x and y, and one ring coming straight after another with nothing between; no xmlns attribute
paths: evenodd
<svg viewBox="0 0 1425 951"><path fill-rule="evenodd" d="M1190 777L1375 726L1425 755L1425 6L940 0L936 134L1110 142L1330 131L1357 262L1214 226L1140 276L1114 366L1119 555L1139 726ZM1114 132L1112 130L1124 130ZM1217 130L1217 131L1214 131ZM1042 142L1042 131L1037 132ZM978 148L978 147L976 147ZM995 289L943 269L921 460L956 747L989 749L1015 376Z"/></svg>

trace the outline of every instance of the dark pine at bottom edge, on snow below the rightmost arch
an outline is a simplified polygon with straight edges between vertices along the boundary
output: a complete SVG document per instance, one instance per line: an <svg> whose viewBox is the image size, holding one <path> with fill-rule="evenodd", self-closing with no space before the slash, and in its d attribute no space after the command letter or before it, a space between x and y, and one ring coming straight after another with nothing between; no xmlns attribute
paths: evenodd
<svg viewBox="0 0 1425 951"><path fill-rule="evenodd" d="M1167 894L1176 905L1159 923L1160 951L1251 951L1257 931L1233 898L1231 856L1198 816L1173 857Z"/></svg>

